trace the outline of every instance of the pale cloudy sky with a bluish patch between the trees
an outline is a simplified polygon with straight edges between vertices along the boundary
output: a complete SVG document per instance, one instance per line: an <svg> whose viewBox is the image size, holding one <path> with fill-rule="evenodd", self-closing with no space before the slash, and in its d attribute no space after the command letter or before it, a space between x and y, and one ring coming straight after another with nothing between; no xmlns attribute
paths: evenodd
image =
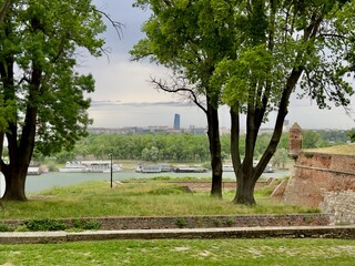
<svg viewBox="0 0 355 266"><path fill-rule="evenodd" d="M119 37L108 23L103 34L110 54L102 58L81 59L79 71L92 73L95 79L95 92L89 96L92 105L89 115L93 119L93 127L124 126L173 126L174 114L181 115L182 127L205 127L205 114L195 105L182 102L173 94L159 92L150 83L151 78L166 76L168 70L155 63L132 62L129 51L144 34L141 32L149 11L133 8L133 0L94 0L98 8L120 21L122 27ZM354 113L348 116L343 108L318 110L316 103L293 98L286 120L291 124L297 122L303 129L341 129L355 127ZM275 115L270 116L265 127L273 125ZM221 126L230 127L229 109L220 110Z"/></svg>

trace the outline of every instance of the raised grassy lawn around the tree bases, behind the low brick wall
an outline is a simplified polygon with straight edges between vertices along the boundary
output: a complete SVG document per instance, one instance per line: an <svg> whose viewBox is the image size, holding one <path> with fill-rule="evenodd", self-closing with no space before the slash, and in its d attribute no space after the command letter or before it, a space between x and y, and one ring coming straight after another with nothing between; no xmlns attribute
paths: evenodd
<svg viewBox="0 0 355 266"><path fill-rule="evenodd" d="M265 192L256 197L257 205L246 207L232 203L235 192L223 200L205 193L187 193L174 184L124 183L110 188L106 182L87 182L54 187L32 195L27 202L7 202L0 218L64 218L100 216L176 216L229 214L308 213L300 206L273 202ZM256 195L258 195L256 193Z"/></svg>

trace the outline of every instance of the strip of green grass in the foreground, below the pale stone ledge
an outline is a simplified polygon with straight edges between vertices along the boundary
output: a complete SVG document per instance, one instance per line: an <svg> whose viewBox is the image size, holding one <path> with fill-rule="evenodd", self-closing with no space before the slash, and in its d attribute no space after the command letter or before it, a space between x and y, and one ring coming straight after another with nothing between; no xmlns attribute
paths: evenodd
<svg viewBox="0 0 355 266"><path fill-rule="evenodd" d="M354 265L355 241L164 239L0 245L0 265Z"/></svg>

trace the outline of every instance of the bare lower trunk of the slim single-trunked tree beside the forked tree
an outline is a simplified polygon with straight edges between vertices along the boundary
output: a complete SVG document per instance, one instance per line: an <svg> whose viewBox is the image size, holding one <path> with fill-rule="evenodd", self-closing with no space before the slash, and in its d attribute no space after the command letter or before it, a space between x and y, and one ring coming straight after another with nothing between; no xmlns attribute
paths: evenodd
<svg viewBox="0 0 355 266"><path fill-rule="evenodd" d="M207 99L209 141L212 167L211 196L222 198L222 156L219 126L219 111Z"/></svg>

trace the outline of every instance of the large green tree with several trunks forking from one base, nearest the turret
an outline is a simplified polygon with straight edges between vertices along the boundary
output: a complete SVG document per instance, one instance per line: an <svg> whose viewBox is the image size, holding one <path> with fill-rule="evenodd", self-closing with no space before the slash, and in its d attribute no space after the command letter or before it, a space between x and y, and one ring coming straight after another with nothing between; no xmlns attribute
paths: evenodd
<svg viewBox="0 0 355 266"><path fill-rule="evenodd" d="M355 69L354 1L237 1L235 59L225 58L214 72L222 98L231 106L232 161L237 180L234 202L255 204L254 187L276 151L288 112L290 95L311 96L320 108L346 106ZM276 112L273 134L258 164L255 143L267 114ZM240 114L246 114L244 157Z"/></svg>

